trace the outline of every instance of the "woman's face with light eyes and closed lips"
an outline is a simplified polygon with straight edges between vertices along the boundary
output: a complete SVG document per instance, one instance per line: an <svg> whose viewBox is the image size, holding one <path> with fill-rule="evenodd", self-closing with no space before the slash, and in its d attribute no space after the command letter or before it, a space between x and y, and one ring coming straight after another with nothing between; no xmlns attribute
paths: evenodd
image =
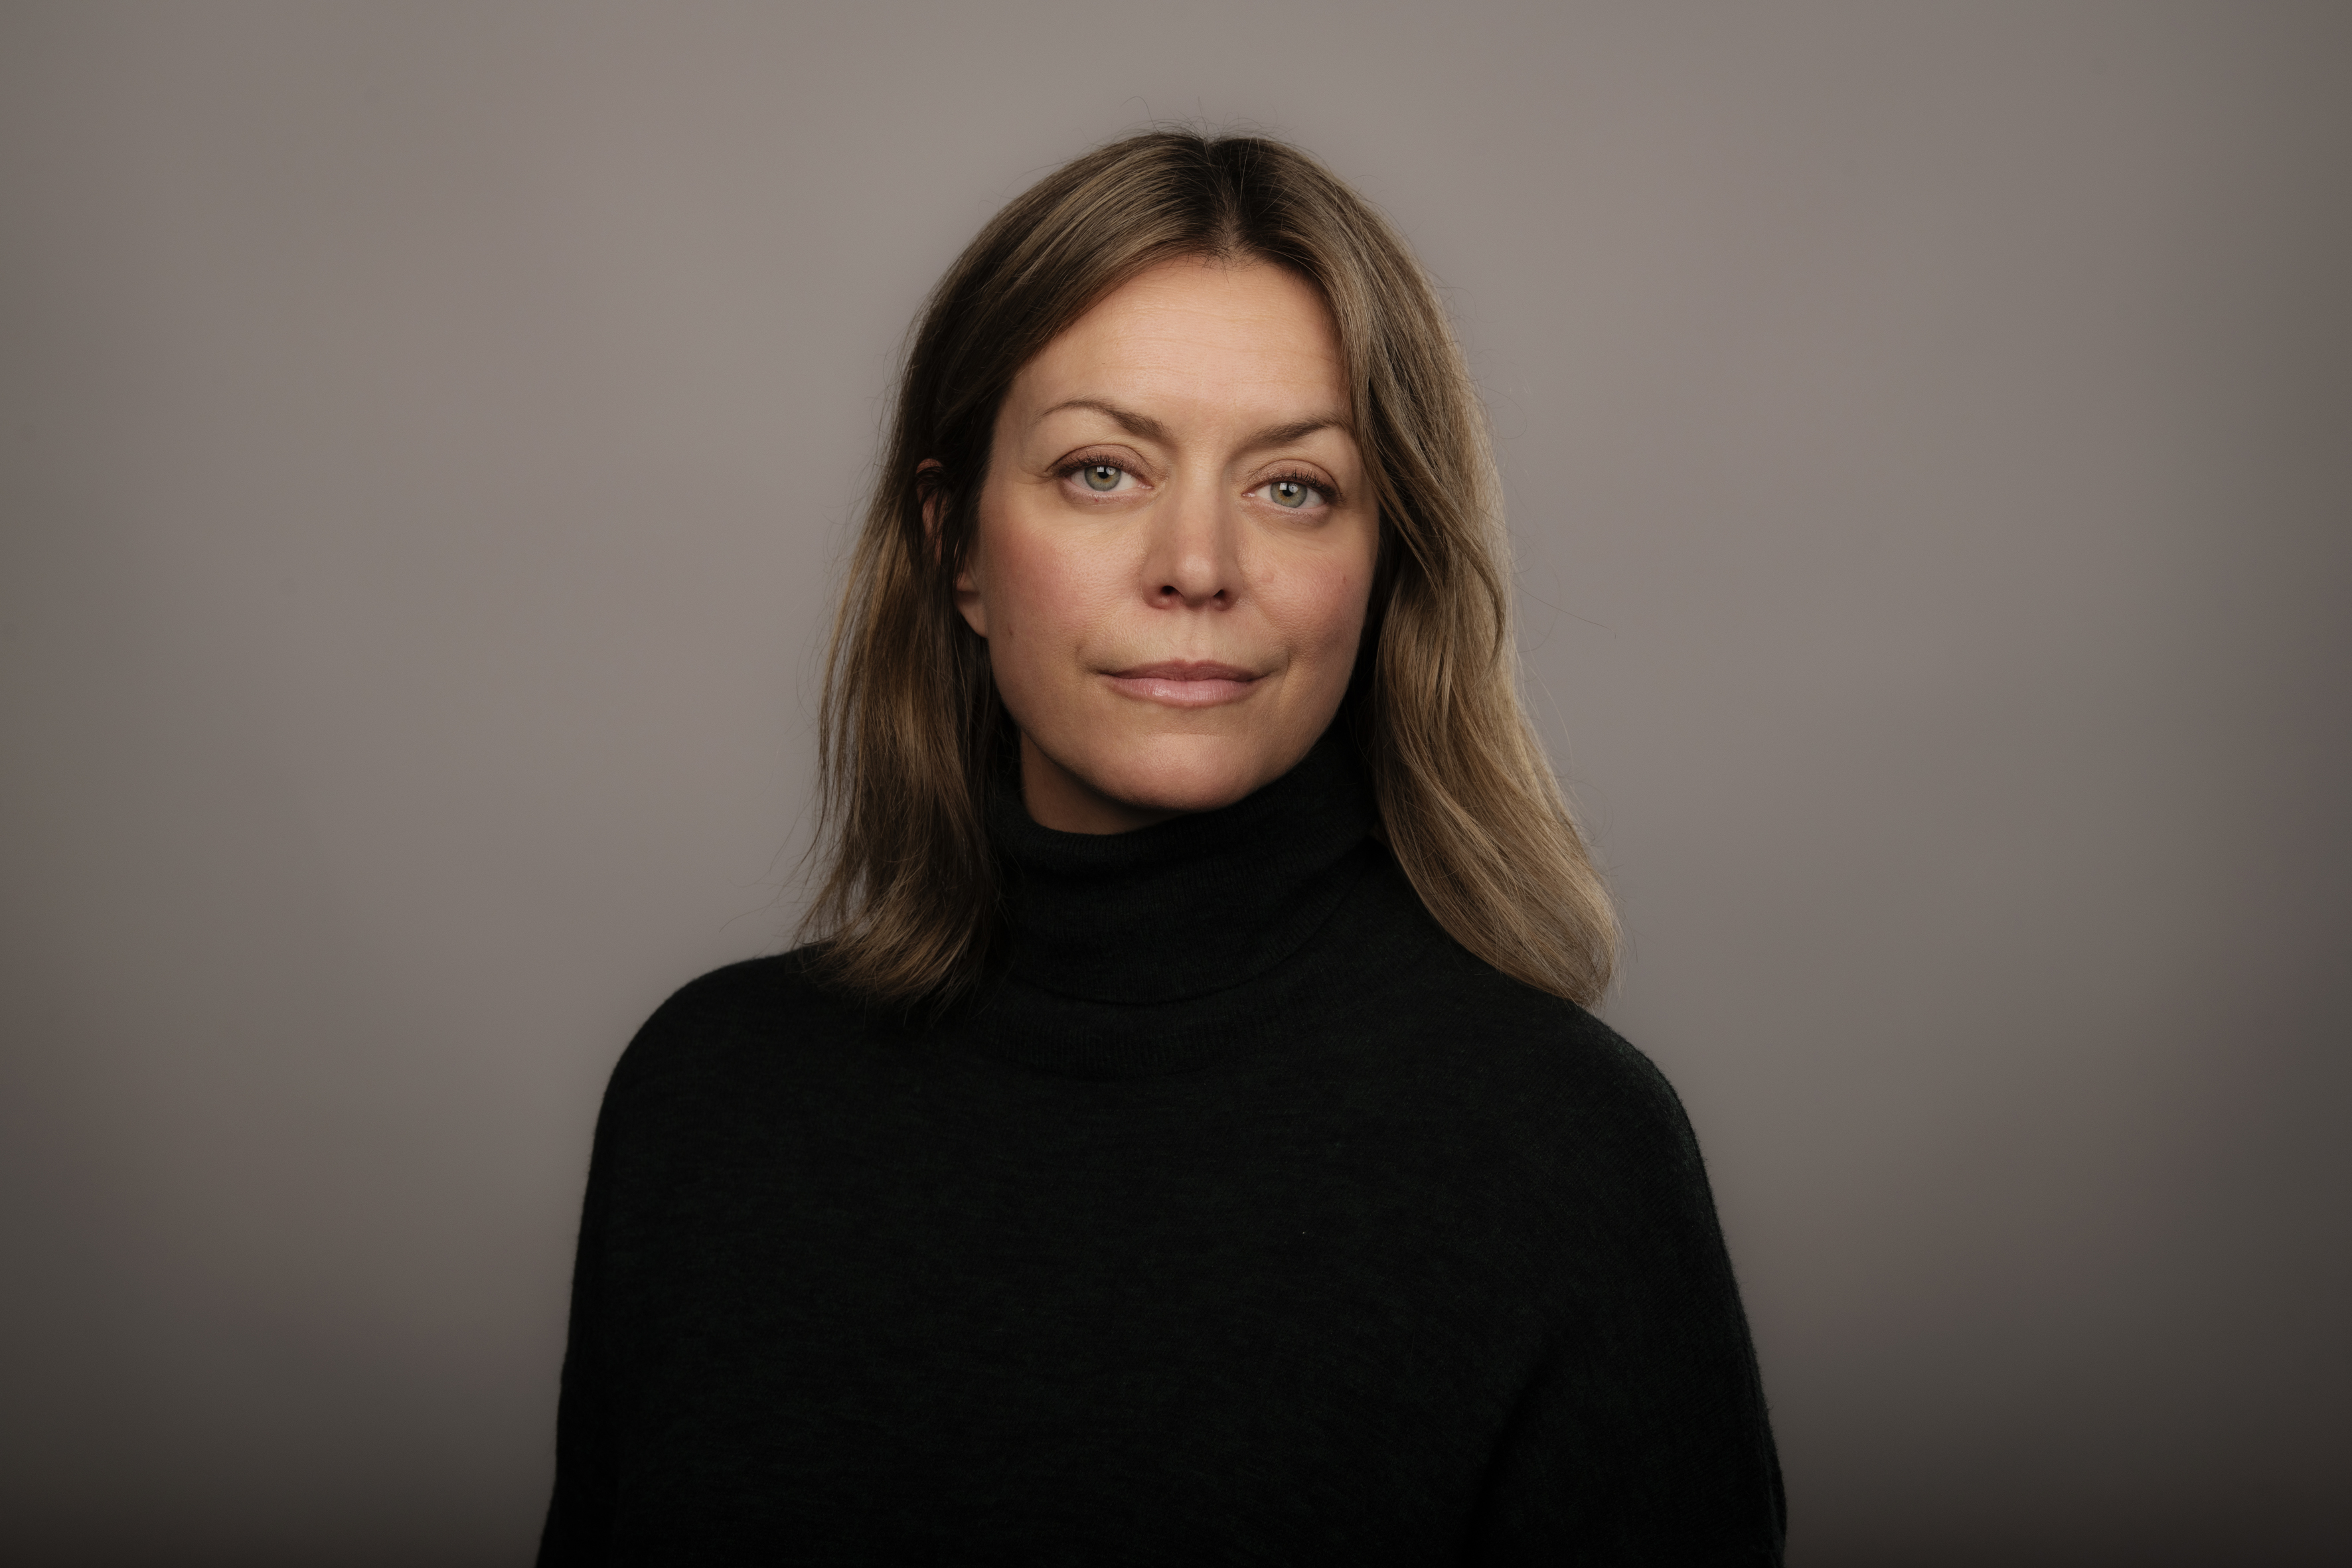
<svg viewBox="0 0 2352 1568"><path fill-rule="evenodd" d="M957 607L988 639L1037 823L1232 804L1331 724L1378 522L1322 296L1171 261L1014 378Z"/></svg>

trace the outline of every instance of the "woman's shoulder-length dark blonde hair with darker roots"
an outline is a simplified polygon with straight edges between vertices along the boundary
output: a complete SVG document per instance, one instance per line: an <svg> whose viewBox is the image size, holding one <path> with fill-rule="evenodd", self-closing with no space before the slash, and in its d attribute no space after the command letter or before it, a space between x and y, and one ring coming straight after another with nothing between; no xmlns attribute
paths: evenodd
<svg viewBox="0 0 2352 1568"><path fill-rule="evenodd" d="M1004 924L985 799L1016 736L953 583L997 409L1087 308L1181 256L1263 259L1329 303L1381 512L1341 722L1383 837L1463 947L1595 1001L1616 914L1519 705L1477 390L1397 233L1312 158L1261 136L1150 132L1098 148L1004 207L931 292L833 621L823 882L802 936L833 978L894 1001L948 1004L985 971Z"/></svg>

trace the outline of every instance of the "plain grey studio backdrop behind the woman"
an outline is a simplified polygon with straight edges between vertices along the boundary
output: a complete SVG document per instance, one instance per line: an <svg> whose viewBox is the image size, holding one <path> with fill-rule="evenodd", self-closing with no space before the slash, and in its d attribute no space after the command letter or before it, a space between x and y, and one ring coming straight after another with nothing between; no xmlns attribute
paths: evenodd
<svg viewBox="0 0 2352 1568"><path fill-rule="evenodd" d="M2347 24L7 5L0 1556L529 1554L901 331L1202 118L1458 313L1792 1559L2345 1561Z"/></svg>

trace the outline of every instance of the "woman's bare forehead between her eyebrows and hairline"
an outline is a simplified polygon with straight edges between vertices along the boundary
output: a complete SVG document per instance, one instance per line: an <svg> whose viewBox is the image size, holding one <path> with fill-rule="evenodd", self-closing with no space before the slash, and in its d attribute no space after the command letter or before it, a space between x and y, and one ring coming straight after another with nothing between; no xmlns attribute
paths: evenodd
<svg viewBox="0 0 2352 1568"><path fill-rule="evenodd" d="M1094 303L1030 360L1014 402L1089 393L1232 407L1343 411L1338 329L1322 294L1265 261L1185 256Z"/></svg>

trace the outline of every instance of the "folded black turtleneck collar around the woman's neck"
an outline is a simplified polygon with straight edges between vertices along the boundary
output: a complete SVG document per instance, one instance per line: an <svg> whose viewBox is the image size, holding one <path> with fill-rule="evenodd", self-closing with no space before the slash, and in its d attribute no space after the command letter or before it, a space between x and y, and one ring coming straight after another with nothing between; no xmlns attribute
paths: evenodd
<svg viewBox="0 0 2352 1568"><path fill-rule="evenodd" d="M1136 832L1056 832L993 802L1009 863L1009 980L1112 1004L1230 990L1296 952L1362 875L1371 785L1338 726L1218 811Z"/></svg>

